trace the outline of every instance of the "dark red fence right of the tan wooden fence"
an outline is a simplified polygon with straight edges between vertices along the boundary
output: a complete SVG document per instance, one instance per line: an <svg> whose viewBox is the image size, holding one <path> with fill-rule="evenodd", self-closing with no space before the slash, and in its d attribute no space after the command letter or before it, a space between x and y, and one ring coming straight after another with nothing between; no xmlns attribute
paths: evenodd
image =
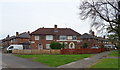
<svg viewBox="0 0 120 70"><path fill-rule="evenodd" d="M62 49L61 54L93 54L100 53L106 51L105 48L99 49L89 49L89 48L81 48L81 49Z"/></svg>

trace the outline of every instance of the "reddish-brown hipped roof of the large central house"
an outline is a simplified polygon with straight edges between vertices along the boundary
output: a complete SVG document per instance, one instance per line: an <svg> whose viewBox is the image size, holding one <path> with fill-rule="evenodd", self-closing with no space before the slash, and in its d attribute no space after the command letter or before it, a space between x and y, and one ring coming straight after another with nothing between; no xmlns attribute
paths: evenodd
<svg viewBox="0 0 120 70"><path fill-rule="evenodd" d="M70 28L39 28L31 33L31 35L77 35L80 36L78 32Z"/></svg>

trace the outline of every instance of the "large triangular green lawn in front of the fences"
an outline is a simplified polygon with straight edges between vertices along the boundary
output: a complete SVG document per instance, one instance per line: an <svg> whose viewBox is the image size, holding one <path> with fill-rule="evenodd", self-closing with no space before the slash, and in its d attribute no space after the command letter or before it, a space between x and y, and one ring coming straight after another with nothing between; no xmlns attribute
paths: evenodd
<svg viewBox="0 0 120 70"><path fill-rule="evenodd" d="M80 55L16 55L22 58L29 58L32 61L46 64L50 67L57 67L73 61L77 61L83 58L90 57L92 54L80 54Z"/></svg>

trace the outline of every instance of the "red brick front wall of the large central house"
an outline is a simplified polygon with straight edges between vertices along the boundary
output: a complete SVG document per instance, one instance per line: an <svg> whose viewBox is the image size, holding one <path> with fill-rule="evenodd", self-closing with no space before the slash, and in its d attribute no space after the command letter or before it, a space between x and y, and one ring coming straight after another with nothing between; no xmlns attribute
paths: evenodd
<svg viewBox="0 0 120 70"><path fill-rule="evenodd" d="M80 38L77 37L77 40L79 40L79 39ZM34 42L34 43L31 43L32 49L38 49L38 44L42 44L43 45L43 49L46 49L46 44L50 44L51 42L56 41L56 40L59 40L59 36L54 36L53 40L46 40L45 36L43 37L43 39L41 39L41 36L40 36L40 40L35 40L35 36L34 35L31 35L31 38L30 38L30 41ZM57 42L62 42L63 43L63 41L57 41ZM66 48L69 48L69 43L70 42L74 42L74 41L64 41L64 43L65 42L68 43L66 45ZM79 43L74 42L74 44L75 44L75 48L80 48L80 44Z"/></svg>

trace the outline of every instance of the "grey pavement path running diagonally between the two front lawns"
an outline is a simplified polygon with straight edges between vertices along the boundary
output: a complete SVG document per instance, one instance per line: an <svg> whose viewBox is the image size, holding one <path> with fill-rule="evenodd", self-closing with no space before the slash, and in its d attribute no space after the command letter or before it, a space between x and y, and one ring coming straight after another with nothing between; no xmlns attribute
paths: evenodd
<svg viewBox="0 0 120 70"><path fill-rule="evenodd" d="M109 53L111 53L111 51L98 53L98 54L91 56L89 58L84 58L82 60L78 60L78 61L75 61L75 62L72 62L69 64L59 66L57 68L88 68L92 64L96 63L98 60L107 57L107 55Z"/></svg>

